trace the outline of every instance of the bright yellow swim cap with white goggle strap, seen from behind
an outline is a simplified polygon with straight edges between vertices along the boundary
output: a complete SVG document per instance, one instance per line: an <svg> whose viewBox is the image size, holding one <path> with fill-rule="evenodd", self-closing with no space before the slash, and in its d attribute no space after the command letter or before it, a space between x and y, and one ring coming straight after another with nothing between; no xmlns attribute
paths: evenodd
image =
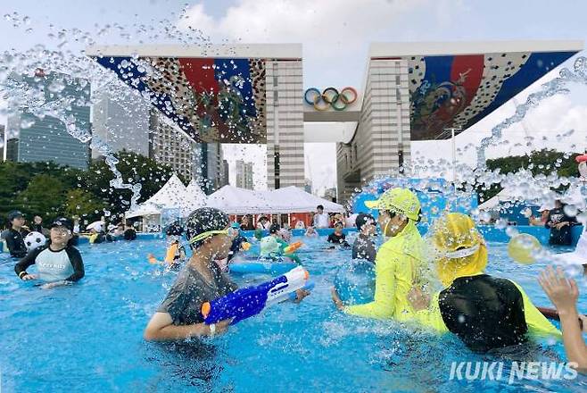
<svg viewBox="0 0 587 393"><path fill-rule="evenodd" d="M430 229L436 271L444 285L458 277L484 272L487 247L466 214L448 213L436 220Z"/></svg>

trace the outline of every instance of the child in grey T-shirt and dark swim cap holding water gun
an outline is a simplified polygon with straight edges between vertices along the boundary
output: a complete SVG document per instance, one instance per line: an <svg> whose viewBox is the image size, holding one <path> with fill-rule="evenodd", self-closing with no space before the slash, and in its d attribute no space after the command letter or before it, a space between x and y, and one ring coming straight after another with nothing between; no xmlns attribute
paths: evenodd
<svg viewBox="0 0 587 393"><path fill-rule="evenodd" d="M215 262L227 258L232 239L228 236L228 216L219 209L202 207L187 218L186 238L194 253L179 273L145 328L148 341L172 341L224 333L230 320L204 323L202 305L236 290L236 284L220 271ZM297 300L309 295L298 290Z"/></svg>

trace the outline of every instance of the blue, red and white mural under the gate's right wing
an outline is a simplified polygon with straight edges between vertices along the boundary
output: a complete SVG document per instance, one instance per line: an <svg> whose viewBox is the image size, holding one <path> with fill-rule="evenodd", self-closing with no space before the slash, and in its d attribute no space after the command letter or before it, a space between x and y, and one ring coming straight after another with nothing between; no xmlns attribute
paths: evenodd
<svg viewBox="0 0 587 393"><path fill-rule="evenodd" d="M466 130L575 52L414 56L409 62L411 139Z"/></svg>

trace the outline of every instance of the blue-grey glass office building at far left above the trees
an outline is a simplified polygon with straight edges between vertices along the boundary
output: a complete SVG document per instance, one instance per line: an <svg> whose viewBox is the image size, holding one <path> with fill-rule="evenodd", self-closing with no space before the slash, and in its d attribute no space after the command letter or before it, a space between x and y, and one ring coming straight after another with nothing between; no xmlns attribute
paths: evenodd
<svg viewBox="0 0 587 393"><path fill-rule="evenodd" d="M75 126L75 133L90 134L90 86L86 80L73 80L68 75L39 74L36 77L14 76L30 93L42 97L44 103L67 98L72 101L67 115ZM39 98L40 99L40 98ZM13 109L7 119L6 159L21 163L49 162L87 169L89 164L89 142L81 142L70 135L65 123L44 113L39 117L34 108Z"/></svg>

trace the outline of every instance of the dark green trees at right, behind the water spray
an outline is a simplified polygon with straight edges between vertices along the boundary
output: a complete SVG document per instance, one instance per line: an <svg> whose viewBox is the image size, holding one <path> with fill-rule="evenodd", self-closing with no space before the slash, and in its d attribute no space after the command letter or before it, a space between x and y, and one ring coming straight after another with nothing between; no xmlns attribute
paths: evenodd
<svg viewBox="0 0 587 393"><path fill-rule="evenodd" d="M543 149L532 152L531 155L512 155L509 157L500 157L487 160L487 169L491 171L499 170L500 173L511 173L524 168L532 172L533 176L538 174L549 175L556 171L558 177L578 177L579 170L575 157L579 154L568 155L556 150ZM489 189L477 188L479 201L482 203L495 196L503 188L499 185L492 185ZM558 189L562 191L562 189Z"/></svg>

